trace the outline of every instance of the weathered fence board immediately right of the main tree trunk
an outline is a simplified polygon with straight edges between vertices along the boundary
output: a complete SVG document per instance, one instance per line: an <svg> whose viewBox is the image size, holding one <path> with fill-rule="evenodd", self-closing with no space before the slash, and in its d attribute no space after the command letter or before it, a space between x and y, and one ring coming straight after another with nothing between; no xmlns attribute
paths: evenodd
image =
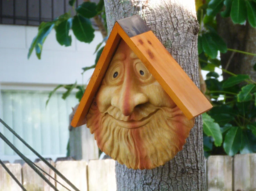
<svg viewBox="0 0 256 191"><path fill-rule="evenodd" d="M230 156L210 156L207 161L208 191L232 191L232 163Z"/></svg>

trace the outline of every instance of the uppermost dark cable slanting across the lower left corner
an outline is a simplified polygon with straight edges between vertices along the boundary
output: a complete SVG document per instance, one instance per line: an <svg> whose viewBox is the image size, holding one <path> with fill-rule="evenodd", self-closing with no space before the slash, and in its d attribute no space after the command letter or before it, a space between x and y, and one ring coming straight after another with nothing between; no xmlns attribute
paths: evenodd
<svg viewBox="0 0 256 191"><path fill-rule="evenodd" d="M59 177L61 177L65 182L67 182L75 191L80 191L74 184L72 184L66 177L63 176L51 163L49 163L45 158L43 158L38 152L36 152L26 141L24 141L14 130L12 130L1 118L0 122L9 130L12 134L15 135L23 144L26 145L34 154L37 155L39 159L41 159L50 169L52 169Z"/></svg>

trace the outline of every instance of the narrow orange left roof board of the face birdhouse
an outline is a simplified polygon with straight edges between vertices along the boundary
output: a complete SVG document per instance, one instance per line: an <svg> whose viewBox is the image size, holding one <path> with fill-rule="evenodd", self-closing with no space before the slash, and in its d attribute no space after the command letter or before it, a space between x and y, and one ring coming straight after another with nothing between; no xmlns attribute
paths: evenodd
<svg viewBox="0 0 256 191"><path fill-rule="evenodd" d="M86 87L85 93L80 101L74 118L71 122L73 127L79 127L86 123L86 114L88 113L91 103L94 99L95 94L103 80L110 61L112 60L113 54L120 42L121 38L117 34L116 26L113 27L111 34L108 37L105 48L101 53L99 61L95 67L95 70L91 76L91 79Z"/></svg>

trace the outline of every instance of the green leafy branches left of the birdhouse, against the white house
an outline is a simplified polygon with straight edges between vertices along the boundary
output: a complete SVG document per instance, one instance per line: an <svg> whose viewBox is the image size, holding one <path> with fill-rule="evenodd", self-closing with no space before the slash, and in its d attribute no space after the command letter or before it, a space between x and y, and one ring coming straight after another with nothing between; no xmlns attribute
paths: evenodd
<svg viewBox="0 0 256 191"><path fill-rule="evenodd" d="M74 36L81 42L90 43L94 39L94 29L92 28L92 24L90 21L90 18L92 17L101 17L104 20L105 29L107 28L103 0L100 0L98 4L90 1L83 2L76 9L74 8L75 3L76 0L69 1L69 5L72 6L74 11L76 12L76 15L73 18L71 17L70 13L64 13L53 21L42 22L40 24L40 26L38 27L37 36L33 39L30 45L27 56L28 58L30 58L33 50L35 49L37 58L41 59L43 43L47 35L51 32L53 28L56 32L56 40L59 42L60 45L66 47L71 46L72 43L70 30L73 31ZM96 47L95 53L97 54L95 63L90 67L82 68L82 74L87 70L95 68L101 52L104 48L104 46L101 46L104 42L106 42L106 40L107 37L104 38L103 41L100 42ZM60 88L64 88L67 90L63 93L62 99L66 99L74 89L77 89L76 98L80 101L82 99L83 93L85 92L85 87L78 85L77 82L68 85L60 84L49 93L46 105L50 101L52 95Z"/></svg>

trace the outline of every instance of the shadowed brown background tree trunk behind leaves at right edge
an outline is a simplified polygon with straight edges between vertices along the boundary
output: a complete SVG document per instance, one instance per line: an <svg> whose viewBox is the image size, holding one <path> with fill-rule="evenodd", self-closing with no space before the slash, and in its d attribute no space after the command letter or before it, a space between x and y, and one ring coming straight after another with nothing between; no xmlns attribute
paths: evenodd
<svg viewBox="0 0 256 191"><path fill-rule="evenodd" d="M245 25L234 24L230 17L222 18L217 16L218 33L227 43L228 48L256 53L256 29L251 27L248 22ZM256 72L253 66L256 57L246 54L228 51L221 54L221 66L235 74L249 74L256 80ZM223 73L223 78L227 79L228 74Z"/></svg>

